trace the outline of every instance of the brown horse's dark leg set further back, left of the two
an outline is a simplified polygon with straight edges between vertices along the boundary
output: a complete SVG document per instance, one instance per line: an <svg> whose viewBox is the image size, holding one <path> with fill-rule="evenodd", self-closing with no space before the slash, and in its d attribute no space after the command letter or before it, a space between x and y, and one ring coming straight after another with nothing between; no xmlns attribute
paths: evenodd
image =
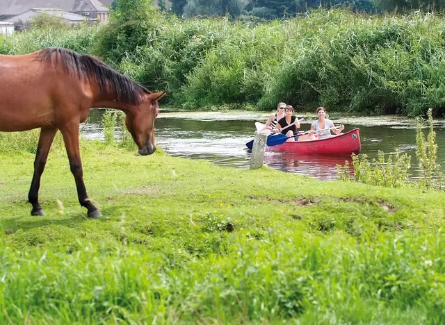
<svg viewBox="0 0 445 325"><path fill-rule="evenodd" d="M37 146L37 153L35 153L34 160L34 174L33 181L31 181L31 188L29 189L28 201L33 205L31 215L44 215L42 207L39 204L39 188L40 178L44 171L44 166L47 163L49 149L53 143L54 136L57 133L57 128L41 128L39 144Z"/></svg>

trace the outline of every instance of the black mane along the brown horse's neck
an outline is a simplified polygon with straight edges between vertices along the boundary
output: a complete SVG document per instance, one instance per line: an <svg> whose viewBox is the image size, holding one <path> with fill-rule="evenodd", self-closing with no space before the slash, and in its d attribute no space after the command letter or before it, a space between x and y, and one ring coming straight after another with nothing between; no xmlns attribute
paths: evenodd
<svg viewBox="0 0 445 325"><path fill-rule="evenodd" d="M40 50L38 57L45 63L61 63L68 74L76 74L79 78L89 82L91 79L97 81L104 94L115 95L118 101L124 103L137 105L140 103L141 93L152 93L136 81L132 81L98 58L88 54L51 47Z"/></svg>

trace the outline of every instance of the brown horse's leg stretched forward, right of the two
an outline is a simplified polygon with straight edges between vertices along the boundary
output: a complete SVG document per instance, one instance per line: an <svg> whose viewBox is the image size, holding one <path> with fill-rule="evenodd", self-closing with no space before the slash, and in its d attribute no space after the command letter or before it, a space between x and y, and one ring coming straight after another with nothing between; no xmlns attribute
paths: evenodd
<svg viewBox="0 0 445 325"><path fill-rule="evenodd" d="M79 203L81 203L81 206L87 208L88 217L102 217L99 210L97 210L97 208L91 203L90 199L88 199L85 183L83 183L83 170L79 151L79 123L68 124L63 128L60 128L60 132L63 135L63 141L65 142L65 147L67 149L71 172L74 176L74 180L76 181Z"/></svg>

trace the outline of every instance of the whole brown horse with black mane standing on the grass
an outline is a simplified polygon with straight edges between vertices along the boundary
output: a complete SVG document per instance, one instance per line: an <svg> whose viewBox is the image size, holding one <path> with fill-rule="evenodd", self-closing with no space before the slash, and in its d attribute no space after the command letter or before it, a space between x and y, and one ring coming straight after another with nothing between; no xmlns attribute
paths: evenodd
<svg viewBox="0 0 445 325"><path fill-rule="evenodd" d="M97 58L60 48L0 56L0 76L0 131L40 128L28 196L31 215L44 215L38 201L40 177L60 130L79 202L87 208L88 217L101 217L83 183L79 124L93 107L122 110L138 153L152 154L156 150L154 119L165 92L150 92Z"/></svg>

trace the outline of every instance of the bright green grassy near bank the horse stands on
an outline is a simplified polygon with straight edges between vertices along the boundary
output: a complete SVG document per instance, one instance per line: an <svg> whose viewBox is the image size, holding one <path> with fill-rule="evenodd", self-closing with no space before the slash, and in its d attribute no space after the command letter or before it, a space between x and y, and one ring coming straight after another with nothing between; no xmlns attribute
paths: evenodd
<svg viewBox="0 0 445 325"><path fill-rule="evenodd" d="M1 323L444 322L445 194L318 182L84 143L87 219L63 148L40 201L0 153Z"/></svg>

